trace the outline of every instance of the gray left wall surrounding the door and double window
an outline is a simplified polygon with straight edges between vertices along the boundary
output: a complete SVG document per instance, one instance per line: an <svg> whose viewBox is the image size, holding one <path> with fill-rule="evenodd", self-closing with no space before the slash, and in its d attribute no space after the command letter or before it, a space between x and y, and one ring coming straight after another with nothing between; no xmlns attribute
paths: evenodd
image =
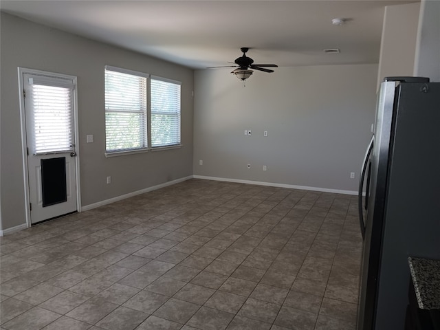
<svg viewBox="0 0 440 330"><path fill-rule="evenodd" d="M25 223L17 67L78 76L79 154L83 206L192 175L194 74L134 52L1 13L1 225ZM104 65L146 72L182 82L183 148L104 157ZM86 135L94 143L86 143ZM111 184L106 183L111 175Z"/></svg>

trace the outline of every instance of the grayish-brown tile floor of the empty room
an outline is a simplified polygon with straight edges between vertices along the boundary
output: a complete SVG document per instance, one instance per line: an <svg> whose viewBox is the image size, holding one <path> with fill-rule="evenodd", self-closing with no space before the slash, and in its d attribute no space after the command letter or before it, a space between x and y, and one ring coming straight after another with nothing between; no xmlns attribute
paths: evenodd
<svg viewBox="0 0 440 330"><path fill-rule="evenodd" d="M191 179L1 238L8 330L355 329L354 196Z"/></svg>

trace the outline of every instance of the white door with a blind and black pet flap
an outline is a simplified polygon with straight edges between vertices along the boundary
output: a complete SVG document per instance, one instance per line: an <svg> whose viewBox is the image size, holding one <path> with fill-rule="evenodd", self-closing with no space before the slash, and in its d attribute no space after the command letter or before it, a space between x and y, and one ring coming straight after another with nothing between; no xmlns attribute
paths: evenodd
<svg viewBox="0 0 440 330"><path fill-rule="evenodd" d="M23 73L31 223L77 210L75 83Z"/></svg>

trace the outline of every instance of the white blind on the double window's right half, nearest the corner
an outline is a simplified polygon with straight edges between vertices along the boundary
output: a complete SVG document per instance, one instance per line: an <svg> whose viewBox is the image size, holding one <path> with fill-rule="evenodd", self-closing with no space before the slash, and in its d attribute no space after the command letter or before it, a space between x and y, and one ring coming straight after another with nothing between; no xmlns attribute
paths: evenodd
<svg viewBox="0 0 440 330"><path fill-rule="evenodd" d="M180 83L151 78L151 146L180 144Z"/></svg>

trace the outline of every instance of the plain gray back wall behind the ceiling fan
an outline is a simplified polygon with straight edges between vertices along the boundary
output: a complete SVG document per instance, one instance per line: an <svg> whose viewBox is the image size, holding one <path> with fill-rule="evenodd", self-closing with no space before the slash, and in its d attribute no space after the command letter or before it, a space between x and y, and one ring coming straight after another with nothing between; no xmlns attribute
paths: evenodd
<svg viewBox="0 0 440 330"><path fill-rule="evenodd" d="M254 72L244 88L230 71L195 72L195 175L357 190L377 65L279 67Z"/></svg>

